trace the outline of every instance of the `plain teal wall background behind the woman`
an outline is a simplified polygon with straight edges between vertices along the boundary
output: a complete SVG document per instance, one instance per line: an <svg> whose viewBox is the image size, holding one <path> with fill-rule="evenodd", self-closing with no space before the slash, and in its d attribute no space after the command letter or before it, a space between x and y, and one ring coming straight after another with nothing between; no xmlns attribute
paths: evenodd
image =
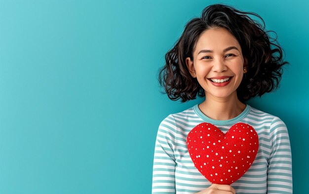
<svg viewBox="0 0 309 194"><path fill-rule="evenodd" d="M309 1L0 0L0 194L148 194L160 121L200 103L157 82L185 24L212 3L260 14L286 58L248 102L279 116L294 193L309 182Z"/></svg>

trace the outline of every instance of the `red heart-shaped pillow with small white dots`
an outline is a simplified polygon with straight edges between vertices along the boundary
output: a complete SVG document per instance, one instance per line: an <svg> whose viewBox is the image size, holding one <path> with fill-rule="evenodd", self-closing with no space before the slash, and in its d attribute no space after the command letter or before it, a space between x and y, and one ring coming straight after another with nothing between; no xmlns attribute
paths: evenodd
<svg viewBox="0 0 309 194"><path fill-rule="evenodd" d="M187 136L194 166L211 183L231 185L251 166L259 149L254 128L238 122L223 133L211 123L196 125Z"/></svg>

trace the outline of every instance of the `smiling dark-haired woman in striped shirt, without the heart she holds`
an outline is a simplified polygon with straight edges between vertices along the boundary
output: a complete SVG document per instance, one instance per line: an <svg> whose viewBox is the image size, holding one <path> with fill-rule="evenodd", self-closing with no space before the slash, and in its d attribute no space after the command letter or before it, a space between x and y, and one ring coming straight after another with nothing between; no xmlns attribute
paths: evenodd
<svg viewBox="0 0 309 194"><path fill-rule="evenodd" d="M249 14L263 21L252 12L223 4L209 5L200 18L187 23L180 39L166 53L159 82L168 97L186 102L198 95L205 96L205 100L167 116L160 123L154 151L153 194L292 193L292 159L286 125L280 118L245 104L275 89L282 75L281 67L288 62L282 60L279 44L270 41L264 31L264 21L264 26L255 23ZM246 123L258 135L255 160L231 185L213 184L191 160L186 139L195 126L205 121L224 133L239 122Z"/></svg>

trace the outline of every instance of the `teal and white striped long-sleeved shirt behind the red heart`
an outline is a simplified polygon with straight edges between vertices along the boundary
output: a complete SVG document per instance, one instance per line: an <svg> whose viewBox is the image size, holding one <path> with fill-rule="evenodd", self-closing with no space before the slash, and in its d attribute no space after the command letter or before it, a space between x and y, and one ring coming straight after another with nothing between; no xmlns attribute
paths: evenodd
<svg viewBox="0 0 309 194"><path fill-rule="evenodd" d="M216 125L224 133L237 123L253 126L259 150L248 171L231 186L236 194L292 194L290 140L284 122L246 106L237 117L214 120L193 106L171 114L160 123L154 149L152 194L195 194L211 183L194 167L188 152L188 133L201 122Z"/></svg>

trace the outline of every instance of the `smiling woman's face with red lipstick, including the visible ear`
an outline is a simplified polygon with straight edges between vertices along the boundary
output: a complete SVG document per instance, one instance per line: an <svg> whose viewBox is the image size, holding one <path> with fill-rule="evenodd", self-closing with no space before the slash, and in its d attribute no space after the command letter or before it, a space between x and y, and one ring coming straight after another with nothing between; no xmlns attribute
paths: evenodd
<svg viewBox="0 0 309 194"><path fill-rule="evenodd" d="M188 57L186 63L205 90L206 98L229 98L236 94L244 73L241 47L225 28L204 31L197 40L193 61Z"/></svg>

